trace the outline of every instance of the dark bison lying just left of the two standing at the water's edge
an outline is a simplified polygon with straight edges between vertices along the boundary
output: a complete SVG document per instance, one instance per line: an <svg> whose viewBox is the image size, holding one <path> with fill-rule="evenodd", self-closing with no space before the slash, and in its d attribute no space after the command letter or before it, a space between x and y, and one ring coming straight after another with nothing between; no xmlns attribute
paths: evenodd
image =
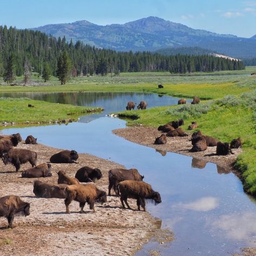
<svg viewBox="0 0 256 256"><path fill-rule="evenodd" d="M100 180L102 178L101 170L98 168L90 168L84 166L77 170L75 178L80 182L95 182L95 180Z"/></svg>

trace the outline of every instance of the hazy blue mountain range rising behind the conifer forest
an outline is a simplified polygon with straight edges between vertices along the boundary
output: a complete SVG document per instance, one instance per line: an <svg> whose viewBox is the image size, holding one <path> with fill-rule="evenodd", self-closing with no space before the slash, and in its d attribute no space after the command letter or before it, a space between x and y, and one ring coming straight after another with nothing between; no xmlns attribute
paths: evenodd
<svg viewBox="0 0 256 256"><path fill-rule="evenodd" d="M251 38L216 34L192 29L158 17L147 17L125 24L96 25L88 21L49 24L40 30L66 40L77 40L119 51L156 51L161 48L200 47L236 58L256 57L256 35Z"/></svg>

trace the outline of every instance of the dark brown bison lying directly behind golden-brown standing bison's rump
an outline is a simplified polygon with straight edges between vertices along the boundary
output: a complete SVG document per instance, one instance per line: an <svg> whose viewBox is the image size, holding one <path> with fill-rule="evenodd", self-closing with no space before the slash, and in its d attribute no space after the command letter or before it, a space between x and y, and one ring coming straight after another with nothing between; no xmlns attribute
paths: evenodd
<svg viewBox="0 0 256 256"><path fill-rule="evenodd" d="M49 184L40 180L35 180L33 192L38 198L66 198L65 188L67 184Z"/></svg>

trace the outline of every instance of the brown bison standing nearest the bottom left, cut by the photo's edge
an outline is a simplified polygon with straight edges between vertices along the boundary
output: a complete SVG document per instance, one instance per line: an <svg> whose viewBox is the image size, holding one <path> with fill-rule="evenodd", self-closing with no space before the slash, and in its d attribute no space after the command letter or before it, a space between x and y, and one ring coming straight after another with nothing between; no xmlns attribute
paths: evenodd
<svg viewBox="0 0 256 256"><path fill-rule="evenodd" d="M0 217L8 220L8 227L12 228L12 222L16 214L28 216L30 204L23 202L17 195L6 195L0 198Z"/></svg>

